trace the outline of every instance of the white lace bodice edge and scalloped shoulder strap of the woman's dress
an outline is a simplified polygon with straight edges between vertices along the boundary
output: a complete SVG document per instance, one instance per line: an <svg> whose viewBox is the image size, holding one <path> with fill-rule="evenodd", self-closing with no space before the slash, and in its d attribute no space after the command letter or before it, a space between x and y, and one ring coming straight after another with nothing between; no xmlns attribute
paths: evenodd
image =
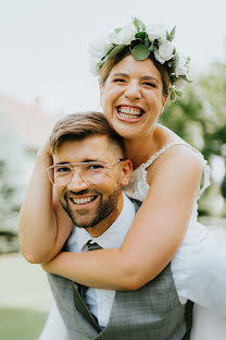
<svg viewBox="0 0 226 340"><path fill-rule="evenodd" d="M175 145L185 145L191 148L200 157L202 165L203 165L203 184L200 190L199 197L201 196L204 190L210 185L210 172L211 172L210 167L206 160L204 159L204 157L202 156L202 154L200 154L194 147L192 147L191 145L187 144L184 141L177 141L177 142L172 142L172 143L166 144L161 150L159 150L153 156L151 156L146 163L141 163L137 169L133 171L130 179L129 179L129 183L124 189L124 192L128 197L141 201L141 202L145 201L148 194L149 187L150 187L149 184L147 183L147 170L146 169L150 167L152 162L160 155L162 155L166 149Z"/></svg>

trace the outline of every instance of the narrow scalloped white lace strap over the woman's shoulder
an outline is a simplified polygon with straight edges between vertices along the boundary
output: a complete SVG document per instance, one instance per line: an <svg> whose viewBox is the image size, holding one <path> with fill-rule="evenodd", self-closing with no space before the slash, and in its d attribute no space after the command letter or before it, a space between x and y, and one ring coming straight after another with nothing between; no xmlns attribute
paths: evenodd
<svg viewBox="0 0 226 340"><path fill-rule="evenodd" d="M140 165L139 168L147 169L148 167L150 167L152 165L152 162L160 155L162 155L166 149L168 149L170 147L175 146L175 145L185 145L185 146L191 148L200 157L200 159L202 161L202 166L203 166L202 187L200 190L200 196L201 196L201 194L205 191L205 189L211 184L211 182L210 182L211 168L208 165L208 161L204 159L203 155L200 151L198 151L194 147L192 147L191 145L187 144L184 141L167 143L161 150L159 150L158 153L152 155L146 163Z"/></svg>

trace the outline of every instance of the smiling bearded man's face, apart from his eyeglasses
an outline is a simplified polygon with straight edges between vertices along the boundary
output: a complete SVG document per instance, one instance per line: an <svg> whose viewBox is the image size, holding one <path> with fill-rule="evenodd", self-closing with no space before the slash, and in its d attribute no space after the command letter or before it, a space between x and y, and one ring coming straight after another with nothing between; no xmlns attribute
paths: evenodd
<svg viewBox="0 0 226 340"><path fill-rule="evenodd" d="M122 158L123 150L103 135L65 141L53 155L54 165L62 166L90 161L109 165ZM88 228L96 235L104 232L116 219L123 204L122 184L127 184L124 168L124 161L120 161L109 167L97 183L95 180L90 183L83 177L81 169L74 167L70 182L54 186L62 207L77 227Z"/></svg>

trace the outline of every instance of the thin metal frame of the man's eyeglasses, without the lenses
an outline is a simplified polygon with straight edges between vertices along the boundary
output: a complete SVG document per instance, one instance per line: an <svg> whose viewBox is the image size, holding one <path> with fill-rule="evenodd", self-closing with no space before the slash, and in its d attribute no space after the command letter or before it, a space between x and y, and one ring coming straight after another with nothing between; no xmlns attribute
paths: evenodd
<svg viewBox="0 0 226 340"><path fill-rule="evenodd" d="M114 162L112 162L112 163L108 163L108 165L104 165L103 162L97 161L97 160L93 160L93 161L80 161L80 162L76 162L76 163L53 165L53 166L48 167L48 168L46 169L46 171L47 171L47 174L48 174L48 179L49 179L49 181L50 181L50 183L51 183L52 185L63 186L63 185L67 185L67 184L72 181L72 177L73 177L73 173L74 173L74 169L73 169L73 168L75 168L75 167L80 167L80 166L83 166L83 165L101 165L101 166L104 167L104 171L105 171L109 167L112 167L112 166L118 163L120 161L124 161L124 160L125 160L124 158L120 158L120 159L117 159L116 161L114 161ZM49 170L54 169L55 167L60 167L60 166L62 166L62 167L64 167L64 166L70 167L71 170L72 170L71 179L70 179L70 181L68 181L66 184L61 184L61 185L59 185L59 184L56 184L56 183L53 183L53 182L51 181L51 179L50 179ZM79 175L80 179L81 179L85 183L87 183L87 184L101 183L101 182L89 182L89 181L85 180L80 173L78 173L78 175Z"/></svg>

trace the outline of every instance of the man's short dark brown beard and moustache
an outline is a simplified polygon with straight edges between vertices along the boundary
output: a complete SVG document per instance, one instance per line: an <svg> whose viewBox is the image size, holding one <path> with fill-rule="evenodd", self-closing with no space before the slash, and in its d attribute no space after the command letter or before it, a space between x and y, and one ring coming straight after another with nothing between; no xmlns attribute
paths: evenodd
<svg viewBox="0 0 226 340"><path fill-rule="evenodd" d="M73 196L81 195L97 195L90 207L76 208L76 204L70 198ZM73 223L80 228L91 228L104 220L117 206L120 197L120 186L117 186L111 195L105 195L98 190L84 190L78 193L73 191L66 191L64 193L64 199L59 198L62 207L71 217Z"/></svg>

